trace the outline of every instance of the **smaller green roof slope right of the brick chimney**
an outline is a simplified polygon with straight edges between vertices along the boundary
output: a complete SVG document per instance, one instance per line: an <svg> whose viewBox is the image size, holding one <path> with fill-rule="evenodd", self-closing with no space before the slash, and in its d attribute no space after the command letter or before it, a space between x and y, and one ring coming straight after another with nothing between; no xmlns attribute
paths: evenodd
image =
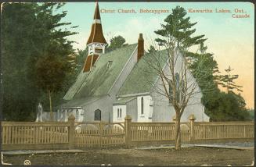
<svg viewBox="0 0 256 167"><path fill-rule="evenodd" d="M117 96L150 92L153 84L157 81L158 76L156 70L151 66L151 64L155 64L156 61L153 55L160 56L160 59L157 60L159 61L161 68L164 68L164 65L168 60L166 50L161 50L156 54L146 53L142 56L139 62L135 64L132 72L118 91Z"/></svg>

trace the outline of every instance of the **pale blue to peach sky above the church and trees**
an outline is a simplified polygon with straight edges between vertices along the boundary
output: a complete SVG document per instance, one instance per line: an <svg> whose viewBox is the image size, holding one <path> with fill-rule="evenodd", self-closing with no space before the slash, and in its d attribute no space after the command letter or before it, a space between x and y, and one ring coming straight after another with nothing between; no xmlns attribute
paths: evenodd
<svg viewBox="0 0 256 167"><path fill-rule="evenodd" d="M241 95L247 108L254 108L254 4L250 2L99 2L101 23L106 41L121 35L128 44L137 43L139 33L143 34L146 48L157 37L154 30L171 14L177 5L187 11L187 16L197 31L204 34L207 52L213 53L219 70L224 74L229 66L232 74L238 74L236 84L243 86ZM136 13L118 12L132 10ZM140 12L140 9L164 10L165 12ZM212 12L192 12L193 10L212 10ZM220 10L229 12L216 12ZM67 2L62 10L67 10L64 22L70 22L78 32L68 37L75 41L74 48L85 49L92 26L95 2ZM115 10L115 12L106 12ZM236 16L247 18L234 18Z"/></svg>

